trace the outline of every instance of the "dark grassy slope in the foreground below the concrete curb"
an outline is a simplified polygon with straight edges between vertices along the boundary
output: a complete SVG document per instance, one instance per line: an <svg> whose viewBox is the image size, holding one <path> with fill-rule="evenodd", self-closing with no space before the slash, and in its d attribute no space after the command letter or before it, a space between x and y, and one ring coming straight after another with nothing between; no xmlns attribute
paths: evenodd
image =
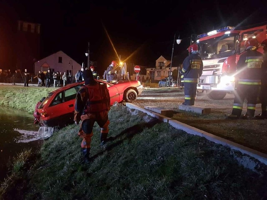
<svg viewBox="0 0 267 200"><path fill-rule="evenodd" d="M262 199L266 174L240 166L230 149L188 135L150 116L112 106L109 136L100 146L95 124L90 164L81 163L79 126L44 142L19 197L4 199ZM27 179L28 181L25 181ZM26 188L21 191L20 188ZM266 194L265 194L266 195Z"/></svg>

